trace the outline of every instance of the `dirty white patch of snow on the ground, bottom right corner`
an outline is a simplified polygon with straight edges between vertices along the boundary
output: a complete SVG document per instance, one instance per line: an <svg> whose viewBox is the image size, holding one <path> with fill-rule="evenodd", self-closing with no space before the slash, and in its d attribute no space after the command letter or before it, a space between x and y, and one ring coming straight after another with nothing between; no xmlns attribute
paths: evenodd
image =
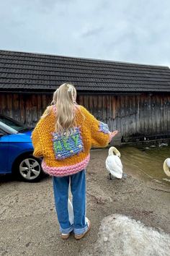
<svg viewBox="0 0 170 256"><path fill-rule="evenodd" d="M98 239L81 256L169 256L170 236L135 221L114 214L103 219Z"/></svg>

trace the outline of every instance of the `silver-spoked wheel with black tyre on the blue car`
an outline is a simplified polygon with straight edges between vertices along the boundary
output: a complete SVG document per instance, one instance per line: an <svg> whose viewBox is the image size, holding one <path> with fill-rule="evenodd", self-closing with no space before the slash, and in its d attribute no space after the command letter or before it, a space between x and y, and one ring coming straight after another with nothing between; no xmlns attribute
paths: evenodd
<svg viewBox="0 0 170 256"><path fill-rule="evenodd" d="M17 161L17 174L24 182L37 182L42 178L44 172L38 158L25 155Z"/></svg>

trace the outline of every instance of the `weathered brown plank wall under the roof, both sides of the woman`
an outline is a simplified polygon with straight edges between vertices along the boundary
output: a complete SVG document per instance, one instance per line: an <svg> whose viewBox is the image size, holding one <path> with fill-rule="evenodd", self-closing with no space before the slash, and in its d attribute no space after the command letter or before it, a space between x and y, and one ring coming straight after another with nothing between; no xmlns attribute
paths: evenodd
<svg viewBox="0 0 170 256"><path fill-rule="evenodd" d="M35 126L52 95L0 93L0 113ZM79 104L122 136L167 135L170 130L170 94L79 95Z"/></svg>

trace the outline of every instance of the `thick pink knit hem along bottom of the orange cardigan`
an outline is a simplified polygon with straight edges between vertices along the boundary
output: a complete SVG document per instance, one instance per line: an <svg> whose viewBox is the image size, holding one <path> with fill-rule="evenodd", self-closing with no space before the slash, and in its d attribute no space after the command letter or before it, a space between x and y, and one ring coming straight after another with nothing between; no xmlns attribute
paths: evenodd
<svg viewBox="0 0 170 256"><path fill-rule="evenodd" d="M47 174L50 174L51 176L68 176L72 174L76 174L79 171L82 171L89 163L90 154L87 155L87 157L84 159L84 161L81 161L80 163L73 164L71 166L63 166L63 167L50 167L47 166L45 161L42 161L42 169Z"/></svg>

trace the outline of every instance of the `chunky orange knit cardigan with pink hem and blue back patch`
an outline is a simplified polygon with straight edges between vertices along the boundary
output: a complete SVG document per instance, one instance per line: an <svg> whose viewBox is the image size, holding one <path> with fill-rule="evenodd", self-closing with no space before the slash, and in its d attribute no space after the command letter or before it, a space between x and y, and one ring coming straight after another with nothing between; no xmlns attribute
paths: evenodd
<svg viewBox="0 0 170 256"><path fill-rule="evenodd" d="M49 107L48 107L49 108ZM91 147L104 148L112 140L107 124L92 116L83 106L76 106L76 127L69 137L55 131L55 106L38 121L32 132L33 155L42 157L42 169L52 176L68 176L86 168Z"/></svg>

